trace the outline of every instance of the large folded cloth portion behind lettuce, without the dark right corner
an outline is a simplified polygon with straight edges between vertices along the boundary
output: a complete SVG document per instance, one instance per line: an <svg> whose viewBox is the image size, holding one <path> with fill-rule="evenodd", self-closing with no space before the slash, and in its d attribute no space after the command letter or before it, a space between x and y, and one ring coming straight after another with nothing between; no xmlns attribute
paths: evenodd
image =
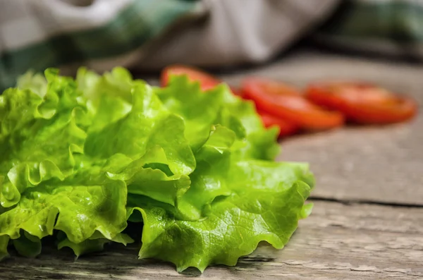
<svg viewBox="0 0 423 280"><path fill-rule="evenodd" d="M336 0L0 0L0 90L28 69L260 62Z"/></svg>

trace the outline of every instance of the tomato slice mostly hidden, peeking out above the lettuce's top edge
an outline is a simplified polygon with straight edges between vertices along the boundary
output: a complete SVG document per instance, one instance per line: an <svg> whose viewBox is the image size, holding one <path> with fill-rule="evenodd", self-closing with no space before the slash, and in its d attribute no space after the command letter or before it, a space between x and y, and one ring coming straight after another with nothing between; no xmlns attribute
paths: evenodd
<svg viewBox="0 0 423 280"><path fill-rule="evenodd" d="M170 75L188 75L191 81L199 81L202 90L209 90L221 83L220 80L214 78L197 68L183 65L171 65L161 71L161 86L164 87L168 84Z"/></svg>

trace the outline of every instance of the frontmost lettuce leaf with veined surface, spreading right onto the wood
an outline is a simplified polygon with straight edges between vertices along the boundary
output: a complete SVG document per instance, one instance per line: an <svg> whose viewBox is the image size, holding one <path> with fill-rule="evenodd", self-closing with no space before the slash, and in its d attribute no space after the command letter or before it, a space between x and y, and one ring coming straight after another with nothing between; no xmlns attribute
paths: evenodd
<svg viewBox="0 0 423 280"><path fill-rule="evenodd" d="M208 207L206 219L183 221L144 197L144 228L140 258L154 257L176 264L178 272L188 267L200 271L210 264L235 265L238 258L250 254L260 241L283 248L309 212L304 202L312 182L305 166L262 162L244 162L235 167L233 193ZM256 167L259 169L255 169ZM286 174L275 180L274 171ZM250 170L255 170L252 174ZM294 170L294 171L293 171ZM247 176L243 176L247 174ZM250 187L250 188L248 188Z"/></svg>

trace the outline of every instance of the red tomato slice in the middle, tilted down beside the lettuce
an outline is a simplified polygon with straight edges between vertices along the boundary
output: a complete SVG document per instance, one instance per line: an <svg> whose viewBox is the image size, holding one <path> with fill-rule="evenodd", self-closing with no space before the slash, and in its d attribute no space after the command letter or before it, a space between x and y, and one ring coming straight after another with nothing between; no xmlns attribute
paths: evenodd
<svg viewBox="0 0 423 280"><path fill-rule="evenodd" d="M326 111L302 97L298 90L271 80L247 78L243 97L252 99L257 109L310 130L324 130L343 125L343 115Z"/></svg>

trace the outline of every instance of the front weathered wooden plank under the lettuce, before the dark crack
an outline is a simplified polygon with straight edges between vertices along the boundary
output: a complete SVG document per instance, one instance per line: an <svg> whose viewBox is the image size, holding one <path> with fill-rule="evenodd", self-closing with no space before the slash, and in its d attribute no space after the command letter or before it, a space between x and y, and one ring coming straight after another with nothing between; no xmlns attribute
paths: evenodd
<svg viewBox="0 0 423 280"><path fill-rule="evenodd" d="M112 250L113 249L113 250ZM184 279L171 264L137 260L137 248L109 248L74 261L47 250L0 263L1 279ZM236 267L209 267L203 279L422 279L423 208L315 202L285 249L267 245Z"/></svg>

